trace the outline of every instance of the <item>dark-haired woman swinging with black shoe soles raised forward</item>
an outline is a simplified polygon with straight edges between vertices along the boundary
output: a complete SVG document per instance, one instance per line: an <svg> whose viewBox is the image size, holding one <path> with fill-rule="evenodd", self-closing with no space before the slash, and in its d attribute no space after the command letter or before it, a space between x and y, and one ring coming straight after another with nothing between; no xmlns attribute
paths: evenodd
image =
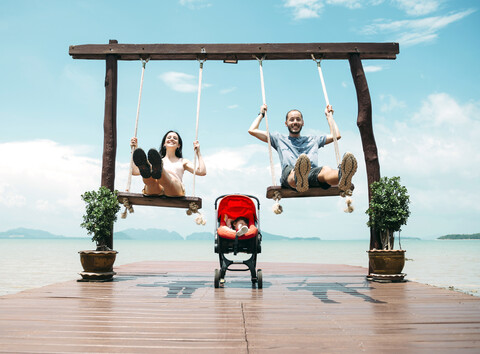
<svg viewBox="0 0 480 354"><path fill-rule="evenodd" d="M138 148L137 138L132 138L130 145L135 148L133 152L134 166L132 175L143 177L145 187L144 195L165 195L168 197L183 197L185 186L183 185L183 173L186 171L194 173L193 163L183 158L182 138L170 130L164 135L160 152L156 149L148 151L148 158L145 151ZM200 154L200 144L193 142L193 149L197 154L198 166L195 171L197 176L205 176L207 169Z"/></svg>

